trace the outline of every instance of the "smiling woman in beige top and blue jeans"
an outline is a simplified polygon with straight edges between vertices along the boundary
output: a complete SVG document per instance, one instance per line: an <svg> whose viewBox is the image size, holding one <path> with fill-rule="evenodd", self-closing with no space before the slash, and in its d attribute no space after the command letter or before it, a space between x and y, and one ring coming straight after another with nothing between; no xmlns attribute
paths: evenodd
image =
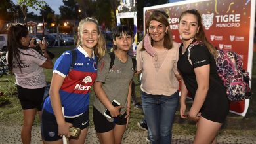
<svg viewBox="0 0 256 144"><path fill-rule="evenodd" d="M177 60L179 44L173 42L165 12L152 12L146 22L146 35L150 41L139 43L137 70L142 74L141 94L144 118L151 143L171 143L171 129L179 103L179 72ZM151 46L155 55L146 51Z"/></svg>

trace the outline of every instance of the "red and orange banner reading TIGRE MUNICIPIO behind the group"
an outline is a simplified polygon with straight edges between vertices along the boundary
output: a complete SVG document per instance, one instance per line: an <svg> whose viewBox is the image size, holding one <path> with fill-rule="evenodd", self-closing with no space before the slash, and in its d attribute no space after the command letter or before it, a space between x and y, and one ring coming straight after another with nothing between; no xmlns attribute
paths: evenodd
<svg viewBox="0 0 256 144"><path fill-rule="evenodd" d="M198 0L180 1L144 7L144 31L147 18L154 10L169 15L173 41L181 43L178 31L180 14L196 9L202 16L203 30L210 43L223 50L232 50L243 58L243 68L250 73L253 60L255 0ZM249 100L230 103L230 112L245 116Z"/></svg>

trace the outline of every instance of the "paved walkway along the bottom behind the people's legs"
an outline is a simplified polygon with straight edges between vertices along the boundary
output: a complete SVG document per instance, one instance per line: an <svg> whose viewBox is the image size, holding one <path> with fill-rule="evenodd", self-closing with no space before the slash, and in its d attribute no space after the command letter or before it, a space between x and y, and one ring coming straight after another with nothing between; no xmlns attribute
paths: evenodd
<svg viewBox="0 0 256 144"><path fill-rule="evenodd" d="M0 144L21 143L20 139L20 125L10 125L3 126L0 125ZM41 133L39 126L33 126L32 128L32 143L41 144ZM147 134L144 131L130 131L127 130L123 137L123 143L127 144L147 144L146 142ZM173 144L189 144L192 143L193 136L191 135L173 135ZM93 127L89 128L89 134L86 139L87 144L96 144L99 143L98 137L96 136L95 129ZM219 144L253 144L256 143L256 137L237 137L232 135L219 135L218 136Z"/></svg>

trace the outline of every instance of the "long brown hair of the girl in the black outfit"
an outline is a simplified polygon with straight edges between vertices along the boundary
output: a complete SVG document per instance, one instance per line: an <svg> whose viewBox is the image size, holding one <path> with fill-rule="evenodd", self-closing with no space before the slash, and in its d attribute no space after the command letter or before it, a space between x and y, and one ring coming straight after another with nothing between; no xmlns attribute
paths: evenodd
<svg viewBox="0 0 256 144"><path fill-rule="evenodd" d="M211 52L211 54L213 54L213 56L216 56L216 49L214 48L213 45L211 45L211 43L209 43L209 41L207 40L207 37L205 36L205 33L203 31L202 18L200 16L200 13L198 12L198 10L191 9L191 10L186 10L186 11L182 12L181 16L179 17L179 24L181 22L181 18L186 14L193 14L194 16L196 16L196 19L198 20L199 30L198 30L198 33L196 33L195 39L197 41L202 41L205 44L205 46L207 46L207 48Z"/></svg>

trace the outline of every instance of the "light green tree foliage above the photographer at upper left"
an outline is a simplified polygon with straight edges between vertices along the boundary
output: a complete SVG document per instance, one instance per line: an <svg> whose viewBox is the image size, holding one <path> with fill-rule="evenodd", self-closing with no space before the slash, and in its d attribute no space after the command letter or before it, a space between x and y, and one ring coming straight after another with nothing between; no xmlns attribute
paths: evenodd
<svg viewBox="0 0 256 144"><path fill-rule="evenodd" d="M18 5L20 5L20 9L24 14L23 23L25 24L27 18L28 7L31 7L34 10L38 10L39 8L44 9L45 4L45 1L42 0L18 0Z"/></svg>

